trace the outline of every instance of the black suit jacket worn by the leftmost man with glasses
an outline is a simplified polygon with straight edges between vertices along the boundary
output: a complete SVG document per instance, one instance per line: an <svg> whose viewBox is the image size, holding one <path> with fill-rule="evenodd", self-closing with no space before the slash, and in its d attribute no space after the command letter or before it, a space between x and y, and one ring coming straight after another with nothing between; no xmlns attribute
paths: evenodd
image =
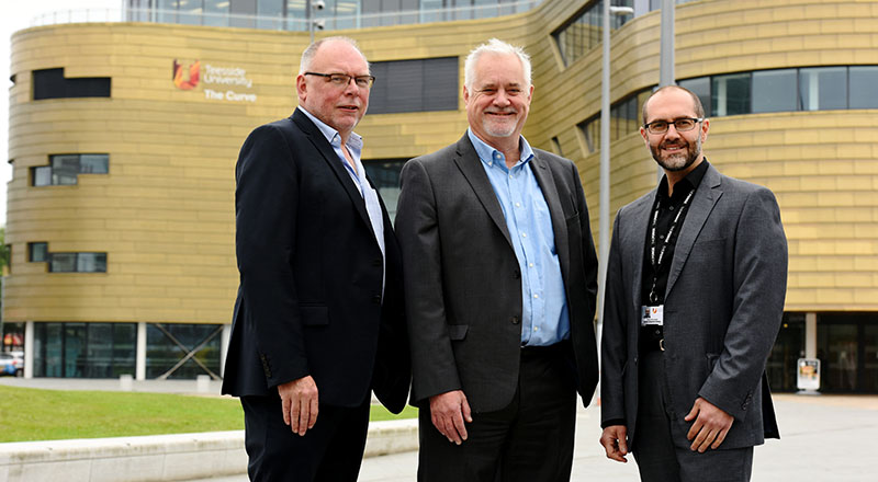
<svg viewBox="0 0 878 482"><path fill-rule="evenodd" d="M311 375L320 403L356 406L372 388L401 411L410 364L399 250L383 203L382 302L384 263L365 203L304 113L254 130L236 179L240 287L223 393L266 395Z"/></svg>

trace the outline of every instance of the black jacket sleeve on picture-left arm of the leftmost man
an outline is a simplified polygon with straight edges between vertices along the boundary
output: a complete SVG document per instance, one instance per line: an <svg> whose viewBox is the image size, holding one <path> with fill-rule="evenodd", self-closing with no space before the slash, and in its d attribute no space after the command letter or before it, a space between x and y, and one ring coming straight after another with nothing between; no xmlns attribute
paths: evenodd
<svg viewBox="0 0 878 482"><path fill-rule="evenodd" d="M266 125L241 147L236 169L236 254L247 313L269 388L308 374L292 272L297 173L288 137Z"/></svg>

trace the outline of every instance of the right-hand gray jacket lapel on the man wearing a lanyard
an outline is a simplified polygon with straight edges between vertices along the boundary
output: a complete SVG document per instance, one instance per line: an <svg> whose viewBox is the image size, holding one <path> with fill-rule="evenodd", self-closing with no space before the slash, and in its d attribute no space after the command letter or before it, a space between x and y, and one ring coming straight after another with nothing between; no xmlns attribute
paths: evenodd
<svg viewBox="0 0 878 482"><path fill-rule="evenodd" d="M667 296L671 294L671 289L674 288L674 283L676 283L680 272L683 272L683 266L689 257L698 233L701 232L701 228L703 228L705 222L707 222L707 217L710 216L713 206L717 205L717 202L722 196L722 191L719 188L720 181L719 171L713 169L712 165L709 165L705 177L701 180L701 185L699 185L695 192L693 205L689 207L686 220L683 221L683 228L679 231L679 238L677 238L677 245L674 248L674 261L671 263L671 272L667 275L665 299L667 299Z"/></svg>

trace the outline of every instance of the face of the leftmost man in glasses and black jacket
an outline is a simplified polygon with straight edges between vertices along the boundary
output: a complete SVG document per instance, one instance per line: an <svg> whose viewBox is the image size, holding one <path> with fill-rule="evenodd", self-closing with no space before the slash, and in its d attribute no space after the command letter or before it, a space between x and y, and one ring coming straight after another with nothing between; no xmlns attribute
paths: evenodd
<svg viewBox="0 0 878 482"><path fill-rule="evenodd" d="M319 46L307 70L318 73L347 73L368 76L369 64L350 44L344 41L328 41ZM295 79L299 104L324 124L338 130L347 140L353 127L365 115L369 106L369 89L348 82L337 87L329 79L300 73Z"/></svg>

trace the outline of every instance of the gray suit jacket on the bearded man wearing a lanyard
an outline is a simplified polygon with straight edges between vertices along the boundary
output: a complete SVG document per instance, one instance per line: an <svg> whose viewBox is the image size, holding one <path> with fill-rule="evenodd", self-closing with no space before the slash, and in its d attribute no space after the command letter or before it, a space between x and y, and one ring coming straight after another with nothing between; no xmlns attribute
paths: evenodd
<svg viewBox="0 0 878 482"><path fill-rule="evenodd" d="M601 420L627 422L634 441L641 276L656 191L619 209L610 245L601 341ZM705 398L734 416L721 448L779 437L765 362L780 329L787 240L770 191L712 165L677 239L665 291L664 360L672 433L688 447L683 418ZM629 447L631 447L629 445Z"/></svg>

